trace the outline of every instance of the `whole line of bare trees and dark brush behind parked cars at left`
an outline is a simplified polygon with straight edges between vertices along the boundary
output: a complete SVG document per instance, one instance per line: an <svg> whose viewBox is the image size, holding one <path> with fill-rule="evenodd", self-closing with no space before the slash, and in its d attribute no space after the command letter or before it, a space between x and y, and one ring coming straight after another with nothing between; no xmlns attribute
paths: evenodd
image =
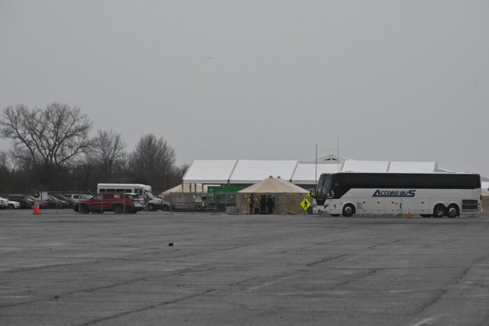
<svg viewBox="0 0 489 326"><path fill-rule="evenodd" d="M76 105L50 103L29 109L11 105L0 117L0 193L94 191L98 183L149 184L165 191L180 184L188 165L175 164L175 149L163 137L143 135L127 151L122 135L95 131Z"/></svg>

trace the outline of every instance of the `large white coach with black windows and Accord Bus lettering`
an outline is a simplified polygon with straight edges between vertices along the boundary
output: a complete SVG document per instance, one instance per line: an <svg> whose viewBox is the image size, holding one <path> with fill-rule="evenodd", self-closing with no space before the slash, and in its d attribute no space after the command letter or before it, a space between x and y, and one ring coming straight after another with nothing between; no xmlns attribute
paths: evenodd
<svg viewBox="0 0 489 326"><path fill-rule="evenodd" d="M353 214L419 214L456 217L481 212L481 177L473 173L322 174L314 193L313 212Z"/></svg>

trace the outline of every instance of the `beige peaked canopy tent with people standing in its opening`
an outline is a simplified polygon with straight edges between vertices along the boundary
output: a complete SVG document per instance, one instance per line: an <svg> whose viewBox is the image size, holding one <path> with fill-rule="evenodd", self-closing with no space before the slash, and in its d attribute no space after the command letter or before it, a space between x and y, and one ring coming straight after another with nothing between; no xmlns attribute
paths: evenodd
<svg viewBox="0 0 489 326"><path fill-rule="evenodd" d="M261 198L262 195L275 198L275 214L306 214L300 203L307 198L307 193L308 191L300 188L300 186L296 186L280 177L274 178L270 176L257 184L238 191L236 195L237 213L249 214L247 198L253 194L255 197L258 196L258 198ZM311 198L309 198L309 202L312 202Z"/></svg>

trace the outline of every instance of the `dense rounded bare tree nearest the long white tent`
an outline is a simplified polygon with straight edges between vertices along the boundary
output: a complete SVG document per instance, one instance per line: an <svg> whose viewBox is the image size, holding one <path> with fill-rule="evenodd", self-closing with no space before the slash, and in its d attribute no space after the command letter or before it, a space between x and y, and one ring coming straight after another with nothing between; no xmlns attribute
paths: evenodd
<svg viewBox="0 0 489 326"><path fill-rule="evenodd" d="M139 182L154 188L168 186L168 177L175 172L175 150L152 133L140 138L129 161Z"/></svg>

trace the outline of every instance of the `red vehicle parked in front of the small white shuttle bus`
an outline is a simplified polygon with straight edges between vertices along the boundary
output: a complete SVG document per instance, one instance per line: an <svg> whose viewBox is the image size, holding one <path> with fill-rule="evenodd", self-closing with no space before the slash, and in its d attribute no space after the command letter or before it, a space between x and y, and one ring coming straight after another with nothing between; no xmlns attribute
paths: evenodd
<svg viewBox="0 0 489 326"><path fill-rule="evenodd" d="M115 214L137 213L145 209L145 200L136 193L99 193L73 204L73 210L80 213L115 212Z"/></svg>

